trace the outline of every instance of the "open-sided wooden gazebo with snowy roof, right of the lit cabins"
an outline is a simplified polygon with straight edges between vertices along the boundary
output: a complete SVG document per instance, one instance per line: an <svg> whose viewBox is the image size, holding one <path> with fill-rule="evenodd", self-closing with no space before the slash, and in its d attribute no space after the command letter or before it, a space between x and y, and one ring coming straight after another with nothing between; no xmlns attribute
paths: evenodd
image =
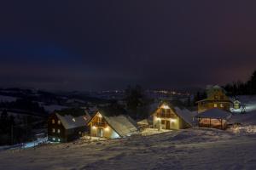
<svg viewBox="0 0 256 170"><path fill-rule="evenodd" d="M195 117L198 119L198 127L225 129L231 116L231 113L228 111L213 108L204 111Z"/></svg>

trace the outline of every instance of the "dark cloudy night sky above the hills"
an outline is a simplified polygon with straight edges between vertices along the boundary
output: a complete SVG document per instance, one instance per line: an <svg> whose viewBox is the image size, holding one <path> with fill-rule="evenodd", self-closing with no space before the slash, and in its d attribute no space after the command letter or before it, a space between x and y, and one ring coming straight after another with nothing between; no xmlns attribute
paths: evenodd
<svg viewBox="0 0 256 170"><path fill-rule="evenodd" d="M256 1L2 1L0 87L204 87L256 69Z"/></svg>

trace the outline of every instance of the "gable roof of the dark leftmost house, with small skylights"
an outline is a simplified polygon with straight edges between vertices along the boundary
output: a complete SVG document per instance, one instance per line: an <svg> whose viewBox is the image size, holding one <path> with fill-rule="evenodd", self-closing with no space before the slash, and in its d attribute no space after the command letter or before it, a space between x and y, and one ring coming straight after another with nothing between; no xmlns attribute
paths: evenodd
<svg viewBox="0 0 256 170"><path fill-rule="evenodd" d="M90 115L81 109L56 111L55 115L66 129L85 127L90 120Z"/></svg>

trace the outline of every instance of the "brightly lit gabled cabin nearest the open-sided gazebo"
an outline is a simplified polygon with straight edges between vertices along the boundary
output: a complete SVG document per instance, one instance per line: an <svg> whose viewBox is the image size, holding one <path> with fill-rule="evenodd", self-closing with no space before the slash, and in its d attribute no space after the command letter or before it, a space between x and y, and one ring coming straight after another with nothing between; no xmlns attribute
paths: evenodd
<svg viewBox="0 0 256 170"><path fill-rule="evenodd" d="M189 116L188 114L183 114L184 111L177 110L168 102L161 103L153 113L153 127L170 130L192 127L192 115Z"/></svg>

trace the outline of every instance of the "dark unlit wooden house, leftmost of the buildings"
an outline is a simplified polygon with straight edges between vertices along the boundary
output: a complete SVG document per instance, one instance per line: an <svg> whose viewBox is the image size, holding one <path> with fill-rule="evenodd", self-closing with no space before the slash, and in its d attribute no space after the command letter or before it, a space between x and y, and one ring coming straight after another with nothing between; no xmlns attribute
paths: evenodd
<svg viewBox="0 0 256 170"><path fill-rule="evenodd" d="M90 115L82 109L55 111L48 119L48 139L52 142L69 142L87 131Z"/></svg>

